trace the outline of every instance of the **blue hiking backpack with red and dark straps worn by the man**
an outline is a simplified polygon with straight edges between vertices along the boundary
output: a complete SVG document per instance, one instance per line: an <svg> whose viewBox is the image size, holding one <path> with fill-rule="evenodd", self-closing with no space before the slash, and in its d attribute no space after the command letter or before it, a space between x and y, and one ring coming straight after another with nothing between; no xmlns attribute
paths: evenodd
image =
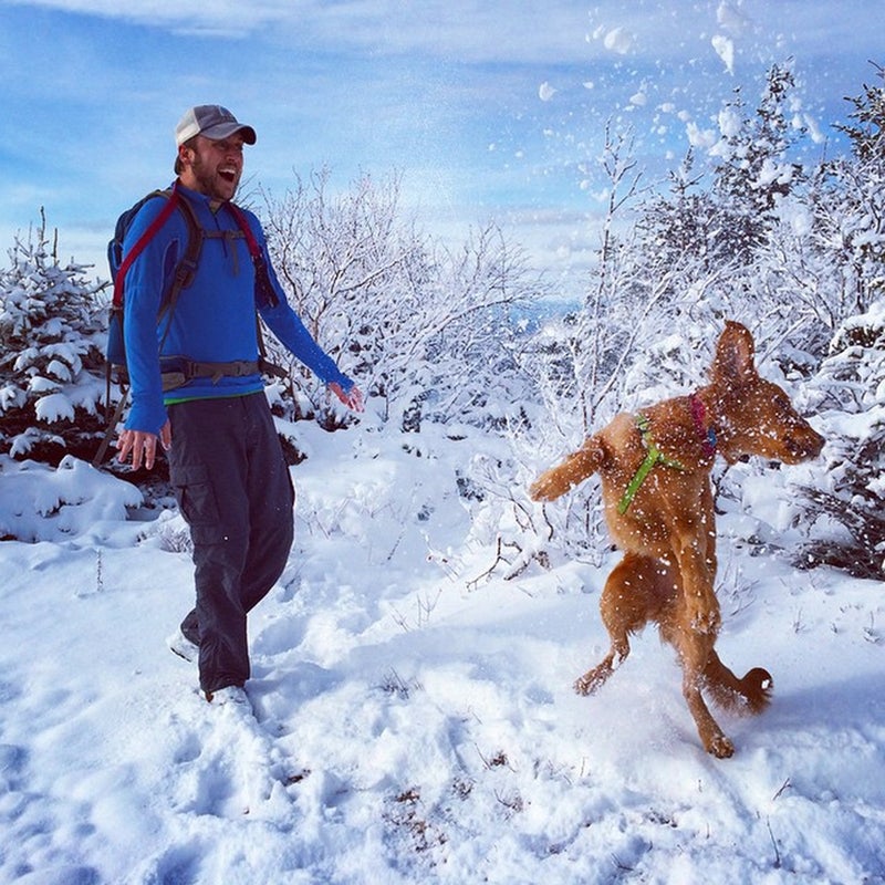
<svg viewBox="0 0 885 885"><path fill-rule="evenodd" d="M152 199L163 198L166 205L159 211L157 217L148 226L147 230L136 240L135 244L129 249L126 257L123 257L123 241L126 233L132 226L135 217L140 211L142 207ZM123 409L126 406L128 398L128 371L126 367L126 347L123 335L123 321L124 321L124 295L126 284L126 272L136 258L145 250L150 240L168 221L171 214L178 209L187 221L188 240L184 254L178 259L178 263L173 271L170 282L160 298L160 310L157 315L157 323L163 320L167 314L175 311L178 303L178 298L183 289L187 289L192 282L199 264L200 252L202 244L207 238L222 238L242 237L249 249L249 254L252 259L256 271L256 308L259 304L262 306L275 306L279 303L277 292L270 282L268 274L267 263L258 244L252 229L239 206L232 202L225 204L228 211L233 216L237 222L238 230L206 230L197 219L194 207L190 202L178 192L178 183L176 181L170 188L166 190L154 190L150 194L142 197L136 204L126 209L119 218L117 218L116 226L114 227L114 237L107 244L107 263L111 269L111 281L114 287L113 298L111 300L110 317L107 323L107 345L105 350L105 404L110 410L111 404L111 385L113 381L121 387L121 398L117 407L112 417L108 418L107 433L102 441L98 451L93 459L93 464L97 467L104 459L107 447L111 442L111 436L114 433L117 421L119 420ZM267 351L264 347L264 340L261 334L261 323L256 309L256 324L258 329L258 348L259 360L257 366L241 364L227 364L227 363L188 363L185 371L175 371L164 373L163 383L164 389L174 389L177 386L185 384L190 377L195 375L210 375L219 377L225 374L244 374L247 371L254 371L256 368L262 373L275 375L278 377L285 377L287 372L279 366L268 362ZM167 332L169 326L167 325ZM164 340L165 341L165 337ZM160 348L163 347L160 342Z"/></svg>

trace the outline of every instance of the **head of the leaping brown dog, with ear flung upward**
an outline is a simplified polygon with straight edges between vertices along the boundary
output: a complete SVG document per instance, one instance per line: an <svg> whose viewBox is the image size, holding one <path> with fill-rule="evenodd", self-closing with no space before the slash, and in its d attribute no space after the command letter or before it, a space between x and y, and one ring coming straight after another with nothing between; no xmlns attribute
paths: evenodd
<svg viewBox="0 0 885 885"><path fill-rule="evenodd" d="M799 464L815 458L824 438L793 408L777 384L759 376L750 332L727 322L710 369L710 404L719 430L719 451L728 461L757 455Z"/></svg>

